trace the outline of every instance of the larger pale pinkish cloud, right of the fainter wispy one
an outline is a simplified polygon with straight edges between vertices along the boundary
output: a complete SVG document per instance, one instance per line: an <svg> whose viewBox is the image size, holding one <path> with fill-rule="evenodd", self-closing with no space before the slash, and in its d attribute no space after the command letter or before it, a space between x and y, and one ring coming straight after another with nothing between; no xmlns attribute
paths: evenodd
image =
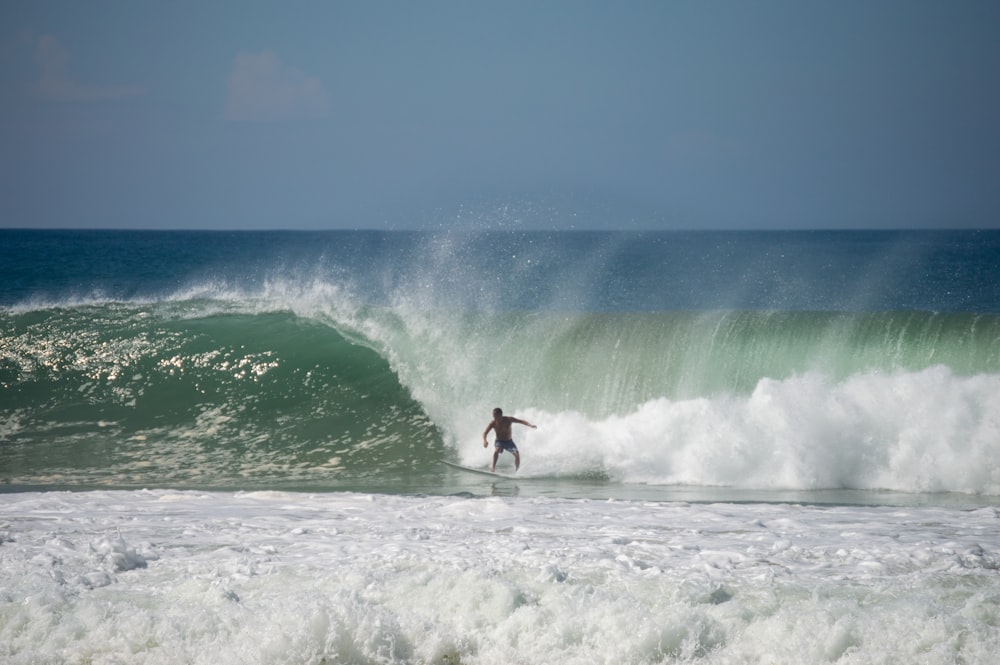
<svg viewBox="0 0 1000 665"><path fill-rule="evenodd" d="M229 76L230 120L323 117L330 98L322 81L284 65L273 51L239 53Z"/></svg>

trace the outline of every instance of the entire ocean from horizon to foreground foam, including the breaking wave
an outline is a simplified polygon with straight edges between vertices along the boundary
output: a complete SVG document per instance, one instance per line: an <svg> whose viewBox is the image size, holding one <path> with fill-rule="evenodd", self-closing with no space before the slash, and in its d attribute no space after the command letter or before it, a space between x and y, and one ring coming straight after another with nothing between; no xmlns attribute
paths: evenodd
<svg viewBox="0 0 1000 665"><path fill-rule="evenodd" d="M0 230L5 663L985 664L998 571L1000 232Z"/></svg>

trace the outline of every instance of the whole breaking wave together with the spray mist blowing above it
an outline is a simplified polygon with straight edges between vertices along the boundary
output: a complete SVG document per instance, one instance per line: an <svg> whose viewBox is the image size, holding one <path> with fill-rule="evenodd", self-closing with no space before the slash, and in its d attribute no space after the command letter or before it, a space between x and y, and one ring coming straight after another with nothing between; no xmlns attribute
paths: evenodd
<svg viewBox="0 0 1000 665"><path fill-rule="evenodd" d="M820 265L797 237L337 239L19 287L0 310L6 480L430 474L482 463L499 405L540 425L515 432L529 477L1000 494L1000 317L955 306L972 296L912 307L941 301L933 279L861 289L854 254L828 242ZM671 243L702 260L678 268Z"/></svg>

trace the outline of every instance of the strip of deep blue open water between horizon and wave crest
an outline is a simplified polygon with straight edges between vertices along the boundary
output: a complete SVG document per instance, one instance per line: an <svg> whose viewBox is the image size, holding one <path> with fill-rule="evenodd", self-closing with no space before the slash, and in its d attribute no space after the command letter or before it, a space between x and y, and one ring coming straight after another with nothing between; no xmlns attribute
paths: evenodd
<svg viewBox="0 0 1000 665"><path fill-rule="evenodd" d="M0 231L0 261L5 305L321 276L482 307L1000 312L994 231Z"/></svg>

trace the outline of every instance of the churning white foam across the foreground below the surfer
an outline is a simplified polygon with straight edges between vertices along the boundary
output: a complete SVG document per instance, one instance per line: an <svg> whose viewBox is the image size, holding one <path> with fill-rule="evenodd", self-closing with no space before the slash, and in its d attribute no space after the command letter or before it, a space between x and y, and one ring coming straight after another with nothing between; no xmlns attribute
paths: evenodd
<svg viewBox="0 0 1000 665"><path fill-rule="evenodd" d="M994 508L6 495L6 663L992 663Z"/></svg>

